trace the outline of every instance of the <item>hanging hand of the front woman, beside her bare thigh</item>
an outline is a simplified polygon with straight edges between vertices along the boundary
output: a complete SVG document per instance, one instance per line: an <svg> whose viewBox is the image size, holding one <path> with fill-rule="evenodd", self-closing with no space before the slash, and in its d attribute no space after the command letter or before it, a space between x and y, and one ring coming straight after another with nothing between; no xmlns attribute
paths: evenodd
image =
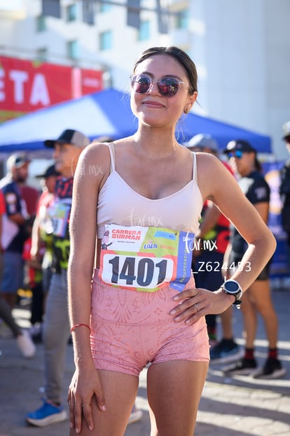
<svg viewBox="0 0 290 436"><path fill-rule="evenodd" d="M82 415L88 428L94 429L92 419L92 397L95 395L97 407L101 411L106 411L104 393L102 390L99 373L95 366L90 369L76 369L69 385L67 402L69 403L69 423L71 428L76 429L76 433L81 432Z"/></svg>

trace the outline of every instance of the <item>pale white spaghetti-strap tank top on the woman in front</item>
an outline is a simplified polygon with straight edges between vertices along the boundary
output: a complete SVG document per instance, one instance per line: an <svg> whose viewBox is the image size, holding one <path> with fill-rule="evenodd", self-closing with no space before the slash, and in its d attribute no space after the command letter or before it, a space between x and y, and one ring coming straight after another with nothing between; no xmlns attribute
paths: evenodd
<svg viewBox="0 0 290 436"><path fill-rule="evenodd" d="M102 239L104 225L142 225L167 227L196 233L203 206L197 185L196 155L193 153L193 178L181 190L160 199L149 199L132 190L115 169L113 143L109 143L111 173L99 192L97 237Z"/></svg>

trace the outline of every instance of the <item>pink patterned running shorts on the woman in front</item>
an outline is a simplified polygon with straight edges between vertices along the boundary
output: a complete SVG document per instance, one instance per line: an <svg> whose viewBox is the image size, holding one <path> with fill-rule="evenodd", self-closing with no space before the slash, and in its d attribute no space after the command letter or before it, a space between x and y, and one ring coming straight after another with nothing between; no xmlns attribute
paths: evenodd
<svg viewBox="0 0 290 436"><path fill-rule="evenodd" d="M96 369L139 376L151 362L209 362L205 317L192 326L174 322L170 310L177 293L170 286L156 292L132 291L92 279L90 345ZM186 289L194 287L191 277Z"/></svg>

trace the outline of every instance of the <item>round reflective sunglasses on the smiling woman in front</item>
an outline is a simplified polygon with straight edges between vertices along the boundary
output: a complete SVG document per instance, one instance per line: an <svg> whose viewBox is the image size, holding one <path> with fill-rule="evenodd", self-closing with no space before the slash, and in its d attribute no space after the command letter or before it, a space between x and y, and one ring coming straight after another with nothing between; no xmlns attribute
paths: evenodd
<svg viewBox="0 0 290 436"><path fill-rule="evenodd" d="M173 97L179 90L179 84L186 86L184 81L178 80L175 77L163 77L163 79L153 80L147 74L132 74L131 88L138 94L147 93L153 86L157 84L158 91L165 97Z"/></svg>

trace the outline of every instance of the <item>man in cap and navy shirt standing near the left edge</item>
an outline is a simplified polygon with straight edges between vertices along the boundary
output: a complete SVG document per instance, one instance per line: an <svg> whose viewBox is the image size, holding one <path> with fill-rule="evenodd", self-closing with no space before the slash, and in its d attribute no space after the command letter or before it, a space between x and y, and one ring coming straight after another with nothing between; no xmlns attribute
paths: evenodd
<svg viewBox="0 0 290 436"><path fill-rule="evenodd" d="M4 247L4 271L1 280L1 296L14 308L18 289L22 287L24 260L23 244L27 238L26 222L29 219L21 186L28 176L30 159L25 154L11 154L7 159L7 175L1 179L6 214L3 220L2 246Z"/></svg>

